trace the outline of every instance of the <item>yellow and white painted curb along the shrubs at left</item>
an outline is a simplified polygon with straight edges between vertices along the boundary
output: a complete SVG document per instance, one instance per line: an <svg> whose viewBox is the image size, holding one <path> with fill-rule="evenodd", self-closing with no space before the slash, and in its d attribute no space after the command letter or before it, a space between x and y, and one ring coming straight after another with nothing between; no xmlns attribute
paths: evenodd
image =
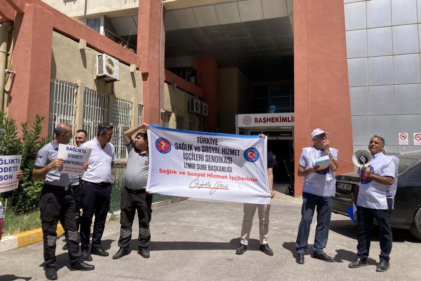
<svg viewBox="0 0 421 281"><path fill-rule="evenodd" d="M164 201L152 203L152 207L160 207L167 204L180 202L185 199L187 199L187 197L175 197L175 198L167 199ZM108 213L107 221L110 220L111 215L119 217L120 211ZM64 234L64 229L59 223L57 225L57 237L60 237L63 234ZM9 250L14 250L20 247L28 246L34 243L38 243L38 242L41 242L42 240L43 240L43 231L41 228L28 230L28 231L13 234L13 235L8 235L8 236L3 237L2 242L0 242L0 253L6 252Z"/></svg>

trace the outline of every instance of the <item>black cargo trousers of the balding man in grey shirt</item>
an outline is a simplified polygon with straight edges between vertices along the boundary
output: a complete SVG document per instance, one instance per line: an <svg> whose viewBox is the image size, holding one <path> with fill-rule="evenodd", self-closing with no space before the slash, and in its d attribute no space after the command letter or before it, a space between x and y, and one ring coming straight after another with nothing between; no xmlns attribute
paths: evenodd
<svg viewBox="0 0 421 281"><path fill-rule="evenodd" d="M44 184L39 204L45 265L47 267L56 265L57 223L59 221L65 230L70 263L77 263L80 253L72 191L65 190L65 187Z"/></svg>

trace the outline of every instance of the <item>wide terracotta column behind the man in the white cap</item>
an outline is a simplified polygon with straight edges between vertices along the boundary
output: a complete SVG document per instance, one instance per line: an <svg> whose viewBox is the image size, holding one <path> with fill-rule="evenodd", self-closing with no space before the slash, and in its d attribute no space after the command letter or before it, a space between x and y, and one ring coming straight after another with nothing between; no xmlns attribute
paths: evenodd
<svg viewBox="0 0 421 281"><path fill-rule="evenodd" d="M302 195L298 177L301 148L313 144L315 128L330 132L339 157L352 156L351 107L342 1L294 1L295 196ZM367 140L368 141L368 140ZM343 162L336 174L353 171Z"/></svg>

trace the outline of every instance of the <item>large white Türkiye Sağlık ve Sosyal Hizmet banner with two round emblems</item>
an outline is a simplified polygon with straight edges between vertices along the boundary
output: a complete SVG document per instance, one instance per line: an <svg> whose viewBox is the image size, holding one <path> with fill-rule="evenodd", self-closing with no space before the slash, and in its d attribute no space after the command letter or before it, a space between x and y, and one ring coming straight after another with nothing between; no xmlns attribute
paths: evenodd
<svg viewBox="0 0 421 281"><path fill-rule="evenodd" d="M152 125L146 191L269 204L267 140Z"/></svg>

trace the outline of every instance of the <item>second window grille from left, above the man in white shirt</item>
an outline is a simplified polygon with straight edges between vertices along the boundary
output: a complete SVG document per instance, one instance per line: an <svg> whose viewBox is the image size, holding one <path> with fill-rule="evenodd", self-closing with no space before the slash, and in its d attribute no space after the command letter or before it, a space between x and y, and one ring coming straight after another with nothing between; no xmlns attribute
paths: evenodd
<svg viewBox="0 0 421 281"><path fill-rule="evenodd" d="M83 96L83 129L88 132L88 139L96 136L98 124L107 122L108 95L85 88Z"/></svg>

